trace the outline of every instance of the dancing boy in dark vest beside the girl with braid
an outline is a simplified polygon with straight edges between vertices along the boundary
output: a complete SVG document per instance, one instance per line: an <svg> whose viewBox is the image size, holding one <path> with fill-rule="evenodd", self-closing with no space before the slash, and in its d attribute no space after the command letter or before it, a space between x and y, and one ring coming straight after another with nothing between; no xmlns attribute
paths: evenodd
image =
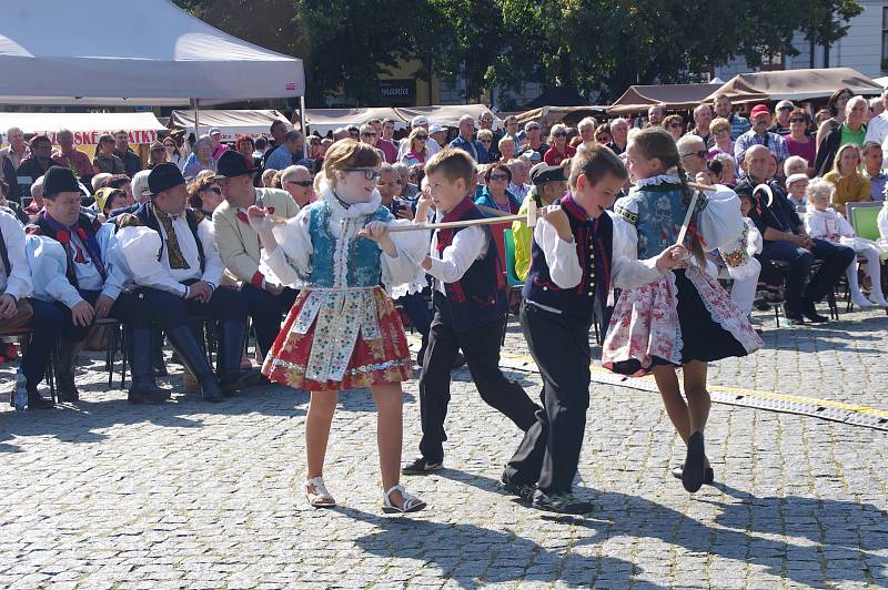
<svg viewBox="0 0 888 590"><path fill-rule="evenodd" d="M575 499L571 489L589 406L593 308L596 299L605 307L612 273L633 273L645 284L674 265L673 251L683 248L644 262L614 256L614 225L605 210L619 194L626 167L602 145L572 160L571 192L543 211L534 230L522 292L521 324L543 377L544 409L508 461L503 485L534 508L585 513L592 503Z"/></svg>

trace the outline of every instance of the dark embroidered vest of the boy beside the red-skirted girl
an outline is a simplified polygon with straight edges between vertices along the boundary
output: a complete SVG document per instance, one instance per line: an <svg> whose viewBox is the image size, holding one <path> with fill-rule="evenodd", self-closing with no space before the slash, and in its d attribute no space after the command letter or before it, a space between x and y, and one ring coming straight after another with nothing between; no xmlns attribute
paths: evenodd
<svg viewBox="0 0 888 590"><path fill-rule="evenodd" d="M481 220L484 214L470 199L464 199L456 207L444 216L444 222ZM447 293L443 298L442 315L450 318L456 332L487 325L502 319L508 308L506 282L500 255L490 227L480 226L487 236L487 252L472 263L465 274L454 283L445 283ZM453 244L453 240L463 228L438 230L438 256L444 248ZM435 281L436 283L436 281ZM436 298L440 301L442 298Z"/></svg>

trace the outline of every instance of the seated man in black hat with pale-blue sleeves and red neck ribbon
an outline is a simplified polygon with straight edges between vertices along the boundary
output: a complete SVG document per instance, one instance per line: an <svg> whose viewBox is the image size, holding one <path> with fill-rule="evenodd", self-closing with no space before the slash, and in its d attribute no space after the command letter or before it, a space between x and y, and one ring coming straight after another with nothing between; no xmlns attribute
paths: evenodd
<svg viewBox="0 0 888 590"><path fill-rule="evenodd" d="M132 369L128 399L133 404L159 404L170 393L154 382L151 364L153 321L148 303L124 292L129 282L122 261L113 256L113 227L102 226L80 210L80 187L74 173L52 166L43 180L43 211L28 226L27 251L34 286L34 308L51 304L61 315L59 363L56 367L59 397L77 401L74 385L78 355L98 319L114 317L127 330ZM42 302L42 303L40 303ZM33 354L29 347L26 358ZM43 352L38 352L44 355ZM28 365L31 359L27 358ZM46 356L34 359L46 362Z"/></svg>

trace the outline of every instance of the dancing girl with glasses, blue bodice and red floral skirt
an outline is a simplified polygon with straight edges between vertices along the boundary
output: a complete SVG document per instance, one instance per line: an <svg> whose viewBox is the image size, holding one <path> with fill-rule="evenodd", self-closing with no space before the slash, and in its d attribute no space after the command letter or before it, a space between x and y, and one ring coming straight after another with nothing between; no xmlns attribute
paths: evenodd
<svg viewBox="0 0 888 590"><path fill-rule="evenodd" d="M371 145L340 141L324 159L321 197L299 215L281 223L250 207L265 263L300 289L262 373L311 391L305 496L313 507L335 506L323 466L337 391L370 387L379 411L383 511L413 512L425 502L398 484L401 382L411 377L412 362L401 319L380 283L392 287L416 276L413 261L428 250L428 232L389 233L390 224L412 222L395 221L381 205L379 166Z"/></svg>

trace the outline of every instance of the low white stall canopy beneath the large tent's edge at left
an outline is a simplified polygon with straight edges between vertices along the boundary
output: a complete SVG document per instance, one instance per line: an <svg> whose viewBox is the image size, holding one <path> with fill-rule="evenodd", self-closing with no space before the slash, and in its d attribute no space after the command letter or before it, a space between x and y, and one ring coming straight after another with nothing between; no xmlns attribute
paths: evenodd
<svg viewBox="0 0 888 590"><path fill-rule="evenodd" d="M19 128L24 133L49 136L56 143L61 129L71 131L74 145L95 145L104 133L125 131L130 143L151 143L164 128L153 113L0 113L0 130Z"/></svg>

